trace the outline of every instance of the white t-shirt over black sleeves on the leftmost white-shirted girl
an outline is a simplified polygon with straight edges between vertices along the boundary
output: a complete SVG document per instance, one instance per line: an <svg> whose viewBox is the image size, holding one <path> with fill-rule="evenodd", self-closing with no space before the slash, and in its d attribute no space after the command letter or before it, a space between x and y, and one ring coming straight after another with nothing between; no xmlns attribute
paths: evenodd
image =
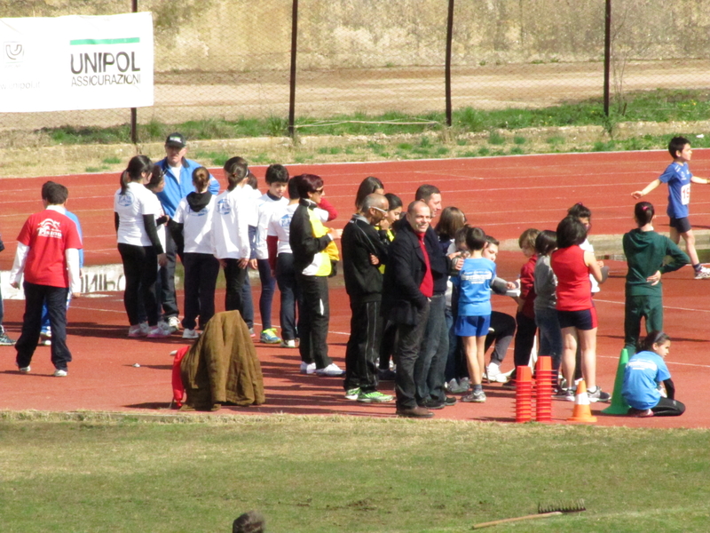
<svg viewBox="0 0 710 533"><path fill-rule="evenodd" d="M146 226L143 222L143 215L154 215L160 211L155 211L154 198L142 184L131 181L126 188L126 194L121 194L118 189L114 195L114 211L118 213L118 242L132 244L133 246L152 246L150 238L146 233ZM160 202L157 203L160 206Z"/></svg>

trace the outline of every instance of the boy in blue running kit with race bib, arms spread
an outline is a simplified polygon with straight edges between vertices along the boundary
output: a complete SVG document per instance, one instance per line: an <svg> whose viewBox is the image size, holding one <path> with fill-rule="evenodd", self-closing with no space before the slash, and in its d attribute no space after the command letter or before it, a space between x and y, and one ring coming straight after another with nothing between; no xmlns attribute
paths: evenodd
<svg viewBox="0 0 710 533"><path fill-rule="evenodd" d="M688 251L690 263L695 270L695 279L703 280L710 278L710 269L700 265L698 252L695 251L695 235L690 227L688 219L690 204L690 183L710 183L710 179L693 176L688 168L688 162L693 154L690 149L690 141L684 137L674 137L668 143L668 152L673 157L673 163L667 166L666 171L654 179L643 190L631 193L636 200L643 195L648 195L653 189L659 187L661 183L668 184L668 209L667 214L671 219L670 237L674 243L678 243L682 237L685 241L685 249Z"/></svg>

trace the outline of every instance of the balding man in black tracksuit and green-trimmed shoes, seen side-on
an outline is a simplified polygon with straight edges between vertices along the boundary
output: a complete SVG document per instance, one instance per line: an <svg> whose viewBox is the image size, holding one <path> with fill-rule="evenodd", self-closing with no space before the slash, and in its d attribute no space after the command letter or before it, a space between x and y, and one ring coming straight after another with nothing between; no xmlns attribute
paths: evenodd
<svg viewBox="0 0 710 533"><path fill-rule="evenodd" d="M343 277L350 297L350 338L345 350L345 398L365 403L391 402L377 390L377 355L382 335L383 274L387 248L375 226L387 214L387 199L373 193L343 228Z"/></svg>

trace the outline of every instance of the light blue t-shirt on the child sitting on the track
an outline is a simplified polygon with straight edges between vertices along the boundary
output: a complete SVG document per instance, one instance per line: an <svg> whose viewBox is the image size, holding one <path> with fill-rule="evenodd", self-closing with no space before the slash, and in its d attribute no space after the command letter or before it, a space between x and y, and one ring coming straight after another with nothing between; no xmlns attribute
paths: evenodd
<svg viewBox="0 0 710 533"><path fill-rule="evenodd" d="M659 354L639 352L627 362L621 395L635 409L651 409L660 400L659 383L670 377L666 362Z"/></svg>

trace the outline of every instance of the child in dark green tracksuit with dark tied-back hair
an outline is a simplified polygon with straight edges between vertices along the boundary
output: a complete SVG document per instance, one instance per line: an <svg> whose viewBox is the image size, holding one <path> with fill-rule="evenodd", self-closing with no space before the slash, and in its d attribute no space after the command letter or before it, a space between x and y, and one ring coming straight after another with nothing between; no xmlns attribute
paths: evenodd
<svg viewBox="0 0 710 533"><path fill-rule="evenodd" d="M634 207L635 229L624 235L622 243L627 257L626 306L624 307L624 347L633 355L641 331L663 330L663 285L661 275L674 272L690 262L685 253L667 236L653 228L655 210L648 202ZM670 256L671 260L666 261Z"/></svg>

